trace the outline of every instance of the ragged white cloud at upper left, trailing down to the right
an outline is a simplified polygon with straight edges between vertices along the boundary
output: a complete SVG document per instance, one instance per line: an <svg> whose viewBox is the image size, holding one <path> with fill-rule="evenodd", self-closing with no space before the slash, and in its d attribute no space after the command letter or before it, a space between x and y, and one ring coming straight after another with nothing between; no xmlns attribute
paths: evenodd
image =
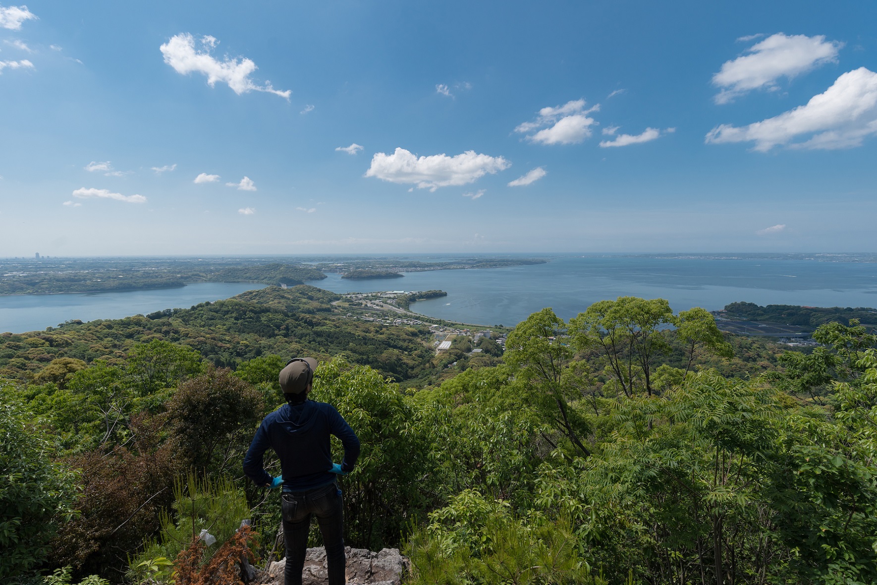
<svg viewBox="0 0 877 585"><path fill-rule="evenodd" d="M183 33L171 37L167 43L159 48L161 54L164 55L164 61L177 73L182 75L193 72L203 73L203 75L207 75L207 84L211 88L216 85L216 82L224 82L238 95L249 91L265 91L289 100L291 89L284 91L274 89L271 82L265 82L264 85L253 83L250 74L257 69L253 61L246 59L246 57L241 57L238 60L228 56L225 56L223 61L217 61L210 54L210 51L217 46L219 41L215 37L205 36L199 42L203 49L201 51L195 47L195 38L189 33Z"/></svg>

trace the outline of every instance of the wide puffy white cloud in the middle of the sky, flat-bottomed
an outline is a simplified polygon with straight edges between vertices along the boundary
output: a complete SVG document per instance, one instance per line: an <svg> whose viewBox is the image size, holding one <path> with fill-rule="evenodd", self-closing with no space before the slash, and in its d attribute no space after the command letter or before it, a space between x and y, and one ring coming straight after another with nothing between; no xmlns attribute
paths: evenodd
<svg viewBox="0 0 877 585"><path fill-rule="evenodd" d="M474 150L455 156L433 154L417 157L404 148L396 148L396 152L392 154L375 153L366 176L395 183L415 184L417 189L435 191L439 187L465 185L510 166L511 163L502 156L476 154Z"/></svg>

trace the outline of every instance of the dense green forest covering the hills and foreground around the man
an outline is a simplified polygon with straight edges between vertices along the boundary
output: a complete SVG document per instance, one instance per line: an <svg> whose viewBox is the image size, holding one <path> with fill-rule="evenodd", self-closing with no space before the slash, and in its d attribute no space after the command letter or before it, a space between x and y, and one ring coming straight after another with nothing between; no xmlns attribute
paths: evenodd
<svg viewBox="0 0 877 585"><path fill-rule="evenodd" d="M240 463L310 353L313 397L363 446L346 542L402 546L411 583L877 580L877 336L856 321L800 353L619 297L534 313L504 351L455 338L451 367L333 300L269 288L0 338L0 579L218 582L275 560L279 496Z"/></svg>

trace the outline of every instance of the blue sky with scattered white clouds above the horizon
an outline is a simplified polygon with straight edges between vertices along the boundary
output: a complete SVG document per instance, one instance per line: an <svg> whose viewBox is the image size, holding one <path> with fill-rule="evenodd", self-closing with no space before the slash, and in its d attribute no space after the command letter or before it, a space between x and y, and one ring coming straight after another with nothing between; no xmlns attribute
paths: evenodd
<svg viewBox="0 0 877 585"><path fill-rule="evenodd" d="M0 256L873 252L875 17L0 4Z"/></svg>

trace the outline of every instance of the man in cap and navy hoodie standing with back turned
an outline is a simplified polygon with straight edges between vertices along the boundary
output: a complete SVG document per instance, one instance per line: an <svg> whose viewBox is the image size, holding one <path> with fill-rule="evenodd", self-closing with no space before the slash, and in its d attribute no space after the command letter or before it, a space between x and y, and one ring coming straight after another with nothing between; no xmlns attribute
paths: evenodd
<svg viewBox="0 0 877 585"><path fill-rule="evenodd" d="M244 473L266 488L283 486L283 539L286 541L286 585L301 585L304 553L308 546L311 515L323 533L329 585L345 581L344 515L337 475L353 470L360 456L360 439L338 410L327 403L308 400L317 360L293 358L280 373L286 404L262 421L244 459ZM341 439L344 461L332 463L329 435ZM282 475L271 477L262 456L271 447L280 458Z"/></svg>

